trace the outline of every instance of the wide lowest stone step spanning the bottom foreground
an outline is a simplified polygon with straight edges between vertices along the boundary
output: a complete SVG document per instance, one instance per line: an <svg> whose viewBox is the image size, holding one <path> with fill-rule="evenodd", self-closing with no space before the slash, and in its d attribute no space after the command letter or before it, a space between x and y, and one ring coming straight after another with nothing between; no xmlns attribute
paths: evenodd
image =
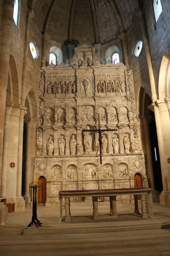
<svg viewBox="0 0 170 256"><path fill-rule="evenodd" d="M27 252L29 253L38 253L38 252L50 252L49 255L53 255L51 253L57 252L57 256L59 255L100 255L101 253L95 252L96 250L114 250L114 256L116 250L121 252L122 246L124 249L130 249L131 252L137 253L140 251L133 251L134 248L142 247L142 248L152 248L153 251L160 251L164 248L167 248L170 255L170 248L167 247L170 244L170 232L169 230L155 230L153 232L147 232L147 234L141 235L141 231L136 231L136 233L126 232L119 233L118 236L115 236L115 233L108 233L109 236L106 236L106 233L103 235L98 233L93 234L82 234L84 236L77 236L77 235L67 235L67 236L45 236L41 235L35 237L33 239L32 236L20 236L21 239L13 239L11 240L4 240L0 241L0 252L1 255L10 254L11 252L18 253L22 252L23 255ZM123 235L123 236L122 236ZM3 237L2 237L3 238ZM24 238L24 239L23 239ZM155 247L159 248L155 250ZM95 253L90 254L88 251L93 251ZM85 251L85 254L81 252ZM66 254L62 254L62 253ZM75 252L79 252L79 254L75 254ZM87 253L86 253L87 252ZM149 252L149 251L148 251ZM41 255L42 255L41 253ZM61 253L61 254L59 254ZM71 253L71 254L70 254ZM109 253L109 251L108 251ZM112 252L111 252L112 253ZM121 252L122 253L122 252ZM19 254L18 254L19 255ZM45 254L44 254L45 255ZM101 255L107 255L103 253ZM109 254L108 254L109 255ZM112 254L113 255L113 254ZM123 255L123 254L122 254ZM126 254L127 255L127 254ZM131 254L132 255L132 254ZM137 254L134 254L137 255ZM145 254L147 255L147 254ZM151 254L149 254L151 255ZM156 255L156 254L155 254ZM159 256L162 254L159 254ZM168 255L168 256L169 256ZM142 255L144 256L144 255Z"/></svg>

